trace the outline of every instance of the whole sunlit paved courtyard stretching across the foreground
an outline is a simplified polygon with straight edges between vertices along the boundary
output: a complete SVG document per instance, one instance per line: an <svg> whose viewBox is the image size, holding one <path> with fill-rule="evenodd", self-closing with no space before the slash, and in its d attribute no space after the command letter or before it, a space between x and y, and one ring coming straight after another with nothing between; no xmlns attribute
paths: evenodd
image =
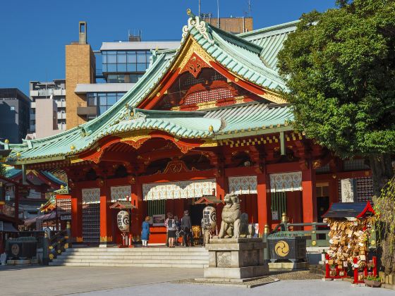
<svg viewBox="0 0 395 296"><path fill-rule="evenodd" d="M0 295L395 295L342 281L281 280L257 288L168 283L202 277L202 269L142 267L0 266Z"/></svg>

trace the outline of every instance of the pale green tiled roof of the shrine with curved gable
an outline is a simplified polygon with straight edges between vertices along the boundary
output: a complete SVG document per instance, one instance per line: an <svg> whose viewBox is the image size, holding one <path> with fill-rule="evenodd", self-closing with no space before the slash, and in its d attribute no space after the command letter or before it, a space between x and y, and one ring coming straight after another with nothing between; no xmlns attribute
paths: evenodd
<svg viewBox="0 0 395 296"><path fill-rule="evenodd" d="M278 42L264 42L265 46L272 48L265 49L259 42L248 41L248 38L254 36L256 37L254 40L258 40L257 35L265 35L263 31L249 32L237 37L204 23L200 27L190 24L185 30L183 29L183 32L181 47L186 38L191 36L207 54L231 73L266 89L285 90L284 82L279 78L277 70L271 66L274 60L270 59L271 54L269 54L270 52L277 54L279 46L274 47L274 44L278 45L281 39ZM180 111L135 109L133 117L129 118L130 109L137 106L154 90L154 87L157 87L180 52L179 49L154 51L145 75L114 106L95 120L51 137L24 140L23 144L5 144L6 149L13 150L9 157L11 163L32 163L38 159L40 161L66 159L68 156L84 151L105 135L117 135L130 130L164 130L176 137L215 139L242 137L250 135L250 133L243 134L243 131L251 132L251 130L267 133L271 128L278 128L278 125L283 129L291 129L284 127L287 116L290 116L288 107L269 108L260 104L221 108L203 113L188 112L188 114ZM214 129L213 132L209 132L210 125ZM234 130L242 132L230 135ZM4 143L0 142L0 144Z"/></svg>

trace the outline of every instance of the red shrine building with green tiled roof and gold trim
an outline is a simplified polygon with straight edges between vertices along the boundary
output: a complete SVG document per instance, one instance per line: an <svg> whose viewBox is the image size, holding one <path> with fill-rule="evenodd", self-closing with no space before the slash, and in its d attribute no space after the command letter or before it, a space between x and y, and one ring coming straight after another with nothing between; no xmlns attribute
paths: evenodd
<svg viewBox="0 0 395 296"><path fill-rule="evenodd" d="M232 35L189 15L178 49L153 51L145 75L101 116L1 143L12 150L7 164L67 173L68 191L57 198L71 205L75 242L121 243L110 206L126 196L135 238L152 217L150 243L165 242L167 212L181 218L188 209L200 225L202 197L239 195L260 234L282 213L293 223L321 221L341 200L342 179L356 180L358 200L370 199L363 160L341 161L293 130L277 54L297 22Z"/></svg>

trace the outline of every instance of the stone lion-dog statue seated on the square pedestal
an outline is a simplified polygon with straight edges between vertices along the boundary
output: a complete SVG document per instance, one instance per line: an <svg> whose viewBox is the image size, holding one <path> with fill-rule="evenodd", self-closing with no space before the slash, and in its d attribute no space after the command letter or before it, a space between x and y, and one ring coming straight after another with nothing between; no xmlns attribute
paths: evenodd
<svg viewBox="0 0 395 296"><path fill-rule="evenodd" d="M255 228L248 226L248 214L241 214L238 195L225 195L224 202L218 238L252 238Z"/></svg>

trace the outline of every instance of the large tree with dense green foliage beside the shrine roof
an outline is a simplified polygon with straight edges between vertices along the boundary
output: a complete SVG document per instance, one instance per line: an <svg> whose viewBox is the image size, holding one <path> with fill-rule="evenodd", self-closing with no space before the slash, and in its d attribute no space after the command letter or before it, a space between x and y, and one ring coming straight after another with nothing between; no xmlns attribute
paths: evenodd
<svg viewBox="0 0 395 296"><path fill-rule="evenodd" d="M370 162L375 195L395 152L395 0L336 1L303 14L279 53L296 130Z"/></svg>

